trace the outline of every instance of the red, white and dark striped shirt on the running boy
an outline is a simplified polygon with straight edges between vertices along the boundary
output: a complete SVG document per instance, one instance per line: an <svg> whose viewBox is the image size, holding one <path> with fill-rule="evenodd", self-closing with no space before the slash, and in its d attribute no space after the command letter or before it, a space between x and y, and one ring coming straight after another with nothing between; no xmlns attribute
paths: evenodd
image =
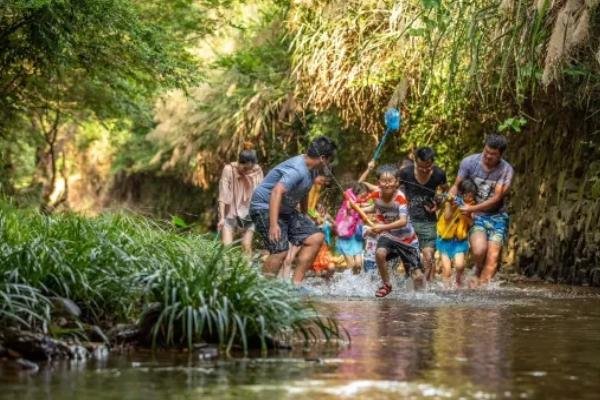
<svg viewBox="0 0 600 400"><path fill-rule="evenodd" d="M419 247L419 240L410 223L408 202L406 201L404 193L398 190L392 197L392 200L388 203L383 201L381 198L381 191L379 190L372 192L368 198L374 202L375 219L378 224L391 224L398 221L400 217L406 217L406 225L401 228L385 231L381 234L382 236L415 248Z"/></svg>

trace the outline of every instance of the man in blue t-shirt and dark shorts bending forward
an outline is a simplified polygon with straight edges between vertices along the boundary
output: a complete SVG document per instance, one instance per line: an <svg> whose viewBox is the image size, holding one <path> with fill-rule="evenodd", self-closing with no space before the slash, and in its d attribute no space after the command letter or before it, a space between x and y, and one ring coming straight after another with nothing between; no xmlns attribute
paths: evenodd
<svg viewBox="0 0 600 400"><path fill-rule="evenodd" d="M304 273L312 265L321 248L324 236L305 214L305 200L313 183L325 183L324 176L317 176L321 167L329 165L335 155L336 145L326 136L314 139L306 154L292 157L273 168L254 190L250 200L250 217L256 231L269 250L264 271L277 274L289 247L289 243L301 246L294 276L294 284L300 284ZM300 212L298 205L303 208Z"/></svg>

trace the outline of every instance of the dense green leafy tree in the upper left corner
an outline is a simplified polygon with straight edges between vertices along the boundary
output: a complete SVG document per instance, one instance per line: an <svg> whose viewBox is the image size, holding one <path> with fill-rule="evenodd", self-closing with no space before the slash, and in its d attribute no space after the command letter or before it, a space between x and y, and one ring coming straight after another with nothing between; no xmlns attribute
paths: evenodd
<svg viewBox="0 0 600 400"><path fill-rule="evenodd" d="M204 32L204 13L190 1L161 4L8 0L0 5L0 135L4 143L36 148L41 175L50 181L46 192L56 176L59 131L67 123L127 119L147 126L158 90L197 81L186 35L193 21ZM177 17L183 13L186 18ZM10 171L15 149L4 145L0 151L2 169ZM7 176L3 180L8 183Z"/></svg>

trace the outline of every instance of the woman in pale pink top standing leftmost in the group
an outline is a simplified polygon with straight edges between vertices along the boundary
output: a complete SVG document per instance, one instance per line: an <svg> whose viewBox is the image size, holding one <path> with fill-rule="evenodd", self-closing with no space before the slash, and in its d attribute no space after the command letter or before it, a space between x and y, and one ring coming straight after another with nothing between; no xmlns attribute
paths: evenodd
<svg viewBox="0 0 600 400"><path fill-rule="evenodd" d="M217 229L225 245L231 244L236 231L242 233L242 248L252 253L254 224L248 215L250 198L263 179L256 152L246 145L238 161L223 168L219 181L219 222Z"/></svg>

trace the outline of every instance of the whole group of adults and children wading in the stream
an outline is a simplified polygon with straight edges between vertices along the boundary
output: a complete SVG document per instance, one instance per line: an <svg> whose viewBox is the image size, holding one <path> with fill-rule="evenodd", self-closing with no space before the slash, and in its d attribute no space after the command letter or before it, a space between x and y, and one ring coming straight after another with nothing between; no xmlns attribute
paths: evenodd
<svg viewBox="0 0 600 400"><path fill-rule="evenodd" d="M377 297L392 291L390 260L402 261L415 287L432 281L436 250L447 285L452 284L452 264L453 284L457 287L467 283L474 287L492 279L508 234L505 199L513 168L502 158L506 147L504 136L488 135L481 153L461 161L451 187L446 173L435 165L434 151L421 147L414 151L412 160L400 166L379 166L375 184L361 183L375 169L375 163L370 162L353 186L356 193L351 188L344 192L338 216L360 224L353 227L350 236L344 236L342 231L347 227L342 224L346 220L336 216L335 222L331 221L333 232L339 236L337 248L346 256L348 265L356 267L354 264L363 261L353 258L358 253L352 253L351 248L361 243L358 246L362 252L363 240L367 247L369 242L373 244L374 261L382 280ZM219 185L218 229L223 242L232 243L234 233L240 231L242 247L251 254L253 233L258 232L269 253L264 260L264 273L281 276L282 267L295 258L292 282L300 285L317 254L326 247L323 226L327 222L317 226L323 218L308 215L306 200L313 186L330 184L329 165L335 155L334 141L321 136L308 145L305 154L280 163L263 178L256 153L250 149L242 151L237 162L225 166ZM361 187L364 193L358 193ZM358 239L354 242L352 238ZM466 282L463 271L469 251L475 273Z"/></svg>

